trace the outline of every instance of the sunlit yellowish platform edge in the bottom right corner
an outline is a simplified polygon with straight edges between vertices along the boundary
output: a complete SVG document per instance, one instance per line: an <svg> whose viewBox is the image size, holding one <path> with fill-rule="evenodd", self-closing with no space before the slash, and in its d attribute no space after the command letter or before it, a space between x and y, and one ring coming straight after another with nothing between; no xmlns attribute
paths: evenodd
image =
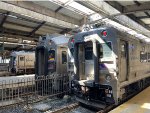
<svg viewBox="0 0 150 113"><path fill-rule="evenodd" d="M150 113L150 87L109 113Z"/></svg>

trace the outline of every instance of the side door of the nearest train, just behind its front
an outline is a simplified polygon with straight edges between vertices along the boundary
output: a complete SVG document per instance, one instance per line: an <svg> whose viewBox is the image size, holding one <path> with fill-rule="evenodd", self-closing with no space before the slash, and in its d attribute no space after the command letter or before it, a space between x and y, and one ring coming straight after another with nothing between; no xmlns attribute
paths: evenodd
<svg viewBox="0 0 150 113"><path fill-rule="evenodd" d="M128 75L128 43L120 41L120 82L126 81Z"/></svg>

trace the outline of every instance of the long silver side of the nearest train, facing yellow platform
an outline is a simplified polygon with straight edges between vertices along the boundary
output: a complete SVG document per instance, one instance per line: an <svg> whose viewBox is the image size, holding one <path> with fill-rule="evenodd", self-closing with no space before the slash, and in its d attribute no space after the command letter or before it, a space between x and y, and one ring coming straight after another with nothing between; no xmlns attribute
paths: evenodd
<svg viewBox="0 0 150 113"><path fill-rule="evenodd" d="M150 77L150 62L148 62L150 45L125 33L121 33L118 37L119 86L117 88L117 98L122 100L148 84Z"/></svg>

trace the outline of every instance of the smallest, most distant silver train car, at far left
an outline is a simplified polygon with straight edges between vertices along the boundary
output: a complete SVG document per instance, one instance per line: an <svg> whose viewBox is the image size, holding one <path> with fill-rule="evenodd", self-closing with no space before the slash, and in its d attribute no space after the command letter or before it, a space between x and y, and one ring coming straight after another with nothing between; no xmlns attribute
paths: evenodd
<svg viewBox="0 0 150 113"><path fill-rule="evenodd" d="M9 70L15 74L34 73L35 53L15 51L10 54Z"/></svg>

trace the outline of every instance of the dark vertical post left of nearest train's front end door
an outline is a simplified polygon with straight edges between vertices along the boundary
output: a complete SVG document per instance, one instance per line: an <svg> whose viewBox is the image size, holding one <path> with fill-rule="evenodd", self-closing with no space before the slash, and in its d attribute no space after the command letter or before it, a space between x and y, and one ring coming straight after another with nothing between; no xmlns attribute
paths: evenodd
<svg viewBox="0 0 150 113"><path fill-rule="evenodd" d="M74 45L74 61L75 61L75 66L74 66L74 72L75 72L75 79L79 80L79 59L78 59L78 52L79 52L79 47L77 44Z"/></svg>

